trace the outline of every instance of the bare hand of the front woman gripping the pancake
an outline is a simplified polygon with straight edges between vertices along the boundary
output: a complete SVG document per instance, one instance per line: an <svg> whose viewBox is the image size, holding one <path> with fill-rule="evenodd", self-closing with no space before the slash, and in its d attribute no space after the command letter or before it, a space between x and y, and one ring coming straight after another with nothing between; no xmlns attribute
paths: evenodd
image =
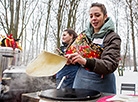
<svg viewBox="0 0 138 102"><path fill-rule="evenodd" d="M67 55L65 55L65 57L67 58L67 65L75 64L75 63L79 63L81 65L85 65L86 64L86 59L83 58L78 53L67 54Z"/></svg>

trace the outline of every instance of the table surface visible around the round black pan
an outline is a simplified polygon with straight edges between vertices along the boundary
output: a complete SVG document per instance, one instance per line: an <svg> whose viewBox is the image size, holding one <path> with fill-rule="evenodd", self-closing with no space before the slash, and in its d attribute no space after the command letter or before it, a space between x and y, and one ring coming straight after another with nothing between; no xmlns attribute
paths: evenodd
<svg viewBox="0 0 138 102"><path fill-rule="evenodd" d="M40 92L22 94L22 101L21 102L39 102L40 101L40 97L38 96L39 94L40 94ZM96 102L97 100L99 100L102 97L111 96L111 95L114 95L114 94L101 93L101 96L99 98L97 98L97 99L85 100L85 101L81 101L81 102ZM45 100L45 102L53 101L52 99L44 99L44 100ZM54 102L64 102L64 101L54 100Z"/></svg>

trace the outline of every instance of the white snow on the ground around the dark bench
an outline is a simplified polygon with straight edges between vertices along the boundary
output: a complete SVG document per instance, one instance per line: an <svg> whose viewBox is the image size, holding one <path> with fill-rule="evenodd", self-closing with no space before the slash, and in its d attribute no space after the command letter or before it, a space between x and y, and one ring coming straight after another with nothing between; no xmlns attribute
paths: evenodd
<svg viewBox="0 0 138 102"><path fill-rule="evenodd" d="M134 83L136 84L136 95L138 95L138 72L134 72L133 68L131 70L125 69L123 76L119 76L118 71L115 71L116 76L116 89L117 94L120 94L121 83ZM133 91L122 91L122 94L134 94Z"/></svg>

